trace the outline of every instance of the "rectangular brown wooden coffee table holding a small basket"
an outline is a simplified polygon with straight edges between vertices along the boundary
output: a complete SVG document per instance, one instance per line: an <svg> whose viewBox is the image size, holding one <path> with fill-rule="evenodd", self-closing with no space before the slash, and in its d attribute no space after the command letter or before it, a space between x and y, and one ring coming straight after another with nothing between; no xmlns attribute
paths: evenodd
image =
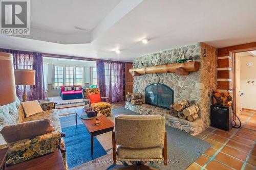
<svg viewBox="0 0 256 170"><path fill-rule="evenodd" d="M81 115L86 114L84 108L76 109L76 126L77 126L77 116L80 118ZM93 157L93 137L100 135L102 133L110 132L114 130L114 123L102 115L99 117L100 125L95 124L95 119L85 120L80 118L83 125L86 127L87 131L91 134L91 156Z"/></svg>

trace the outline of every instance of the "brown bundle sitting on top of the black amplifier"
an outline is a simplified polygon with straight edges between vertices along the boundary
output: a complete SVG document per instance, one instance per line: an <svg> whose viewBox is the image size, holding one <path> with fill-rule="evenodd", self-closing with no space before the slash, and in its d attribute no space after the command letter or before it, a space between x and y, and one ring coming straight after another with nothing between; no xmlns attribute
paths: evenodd
<svg viewBox="0 0 256 170"><path fill-rule="evenodd" d="M215 90L212 93L212 103L221 106L231 106L232 96L228 92L221 92L220 90Z"/></svg>

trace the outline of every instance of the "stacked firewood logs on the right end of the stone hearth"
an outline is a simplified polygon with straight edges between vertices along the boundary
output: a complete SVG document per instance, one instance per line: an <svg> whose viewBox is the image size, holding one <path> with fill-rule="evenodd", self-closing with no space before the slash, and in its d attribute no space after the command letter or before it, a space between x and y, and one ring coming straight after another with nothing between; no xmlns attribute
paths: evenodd
<svg viewBox="0 0 256 170"><path fill-rule="evenodd" d="M182 119L187 119L190 122L195 121L198 116L199 108L197 105L190 105L187 100L180 100L170 106L170 115L179 116Z"/></svg>

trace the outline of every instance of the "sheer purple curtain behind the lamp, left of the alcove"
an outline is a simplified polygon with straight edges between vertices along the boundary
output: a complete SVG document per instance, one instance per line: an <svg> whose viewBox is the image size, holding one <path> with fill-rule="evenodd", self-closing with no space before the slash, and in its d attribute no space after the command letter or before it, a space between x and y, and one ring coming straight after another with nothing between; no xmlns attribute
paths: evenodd
<svg viewBox="0 0 256 170"><path fill-rule="evenodd" d="M26 91L28 94L27 100L31 101L45 99L44 72L42 71L42 54L2 48L0 48L0 52L11 53L13 55L14 69L35 70L35 85L26 86ZM16 94L20 100L22 99L23 91L23 85L16 86Z"/></svg>

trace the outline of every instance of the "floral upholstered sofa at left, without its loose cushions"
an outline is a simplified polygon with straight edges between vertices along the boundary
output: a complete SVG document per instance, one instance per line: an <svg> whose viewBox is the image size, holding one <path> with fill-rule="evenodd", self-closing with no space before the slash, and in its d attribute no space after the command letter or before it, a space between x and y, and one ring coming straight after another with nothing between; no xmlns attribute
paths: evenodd
<svg viewBox="0 0 256 170"><path fill-rule="evenodd" d="M44 118L49 118L51 120L55 130L54 132L12 143L6 143L5 139L0 134L0 149L9 148L6 159L7 166L54 152L60 148L65 148L63 135L61 134L59 116L57 110L54 109L54 102L42 103L40 105L44 111L29 117L25 117L23 107L18 98L11 104L0 106L0 130L8 125ZM62 152L62 158L67 169L66 152Z"/></svg>

